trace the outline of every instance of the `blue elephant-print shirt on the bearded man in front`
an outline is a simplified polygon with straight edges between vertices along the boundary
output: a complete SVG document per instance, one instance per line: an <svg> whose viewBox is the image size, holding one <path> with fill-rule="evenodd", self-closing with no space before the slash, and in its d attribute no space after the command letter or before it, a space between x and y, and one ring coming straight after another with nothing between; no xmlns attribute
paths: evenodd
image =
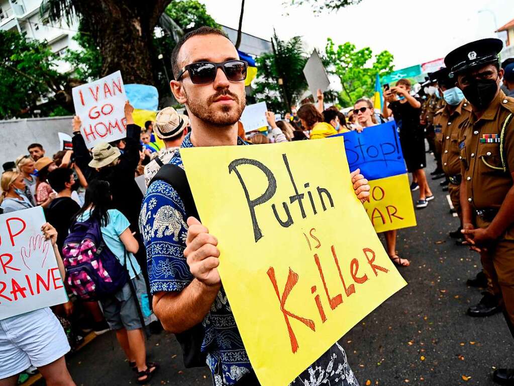
<svg viewBox="0 0 514 386"><path fill-rule="evenodd" d="M193 147L190 135L184 138L181 147ZM237 145L246 143L237 138ZM183 168L179 149L175 150L170 163ZM193 280L183 254L188 229L186 210L170 184L163 181L150 184L141 207L139 227L148 257L151 292L186 288ZM250 373L252 367L223 287L203 324L206 335L202 350L207 350L207 364L215 385L235 384ZM331 384L337 386L358 386L344 349L337 343L292 384L310 386L321 384L320 380L326 380L323 384L332 381Z"/></svg>

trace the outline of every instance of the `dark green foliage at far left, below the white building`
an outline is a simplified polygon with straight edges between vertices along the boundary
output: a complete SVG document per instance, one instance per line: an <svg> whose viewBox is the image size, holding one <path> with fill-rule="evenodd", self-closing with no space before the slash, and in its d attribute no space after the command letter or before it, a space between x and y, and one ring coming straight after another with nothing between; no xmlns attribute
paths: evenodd
<svg viewBox="0 0 514 386"><path fill-rule="evenodd" d="M56 71L57 59L45 42L0 30L0 119L28 116L41 99L66 99L71 87ZM53 108L44 104L42 109L50 110L42 113Z"/></svg>

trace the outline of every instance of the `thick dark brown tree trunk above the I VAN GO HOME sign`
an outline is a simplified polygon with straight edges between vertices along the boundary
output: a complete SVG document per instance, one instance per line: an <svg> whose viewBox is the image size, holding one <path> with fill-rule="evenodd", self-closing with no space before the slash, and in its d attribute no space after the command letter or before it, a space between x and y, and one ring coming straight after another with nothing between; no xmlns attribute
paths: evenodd
<svg viewBox="0 0 514 386"><path fill-rule="evenodd" d="M172 0L75 1L81 3L77 11L84 30L91 33L102 54L102 75L120 70L125 83L154 84L154 28Z"/></svg>

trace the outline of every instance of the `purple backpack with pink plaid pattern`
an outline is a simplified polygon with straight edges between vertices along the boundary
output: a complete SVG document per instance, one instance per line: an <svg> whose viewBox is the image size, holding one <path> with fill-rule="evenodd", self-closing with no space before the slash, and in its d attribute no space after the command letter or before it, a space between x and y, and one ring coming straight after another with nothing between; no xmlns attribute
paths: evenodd
<svg viewBox="0 0 514 386"><path fill-rule="evenodd" d="M77 221L64 240L68 288L85 301L100 300L128 282L128 272L107 247L98 221Z"/></svg>

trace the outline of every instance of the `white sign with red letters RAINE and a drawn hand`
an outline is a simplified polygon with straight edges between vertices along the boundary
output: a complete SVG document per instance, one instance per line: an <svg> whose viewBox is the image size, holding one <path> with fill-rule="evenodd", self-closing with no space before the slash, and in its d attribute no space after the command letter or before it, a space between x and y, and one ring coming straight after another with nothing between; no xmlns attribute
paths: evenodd
<svg viewBox="0 0 514 386"><path fill-rule="evenodd" d="M0 216L0 320L68 301L45 222L41 206Z"/></svg>

